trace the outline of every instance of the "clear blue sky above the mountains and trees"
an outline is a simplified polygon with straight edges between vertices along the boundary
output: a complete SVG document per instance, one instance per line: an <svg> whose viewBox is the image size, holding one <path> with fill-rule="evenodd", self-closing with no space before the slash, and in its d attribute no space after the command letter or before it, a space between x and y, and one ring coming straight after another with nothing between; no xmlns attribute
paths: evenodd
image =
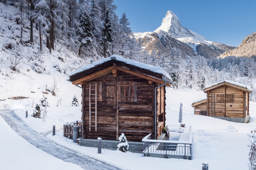
<svg viewBox="0 0 256 170"><path fill-rule="evenodd" d="M134 32L154 31L168 10L210 41L238 46L256 31L256 0L114 0Z"/></svg>

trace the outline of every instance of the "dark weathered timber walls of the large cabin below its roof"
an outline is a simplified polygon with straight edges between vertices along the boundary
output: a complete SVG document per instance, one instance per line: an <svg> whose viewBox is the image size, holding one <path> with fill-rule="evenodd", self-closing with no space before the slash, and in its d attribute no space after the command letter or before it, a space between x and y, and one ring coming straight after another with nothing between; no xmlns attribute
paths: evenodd
<svg viewBox="0 0 256 170"><path fill-rule="evenodd" d="M95 127L91 127L91 131L89 131L89 84L97 84L97 131ZM87 139L101 137L103 140L117 140L118 131L118 136L124 133L128 141L141 141L149 133L153 135L154 87L157 85L159 84L149 84L148 80L125 72L120 72L117 77L109 73L90 80L87 85L82 85L84 137ZM118 109L114 108L117 104ZM161 113L163 113L165 123L164 86L158 88L157 91L157 121L158 115ZM92 118L93 120L95 118ZM165 125L164 123L162 127ZM159 129L157 130L159 131ZM160 133L158 132L157 136L160 136Z"/></svg>

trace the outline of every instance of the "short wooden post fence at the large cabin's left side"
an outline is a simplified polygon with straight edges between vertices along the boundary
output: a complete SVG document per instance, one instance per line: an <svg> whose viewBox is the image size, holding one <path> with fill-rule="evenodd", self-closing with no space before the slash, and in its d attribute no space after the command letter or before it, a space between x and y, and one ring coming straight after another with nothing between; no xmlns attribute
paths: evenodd
<svg viewBox="0 0 256 170"><path fill-rule="evenodd" d="M63 134L64 137L68 139L73 139L73 127L74 125L78 126L78 138L82 137L82 121L73 121L73 122L66 122L63 124Z"/></svg>

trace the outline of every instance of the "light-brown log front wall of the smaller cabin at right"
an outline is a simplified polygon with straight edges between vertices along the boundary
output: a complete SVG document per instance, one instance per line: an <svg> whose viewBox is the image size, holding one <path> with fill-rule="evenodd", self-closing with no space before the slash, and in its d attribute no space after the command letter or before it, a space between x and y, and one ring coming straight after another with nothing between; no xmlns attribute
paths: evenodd
<svg viewBox="0 0 256 170"><path fill-rule="evenodd" d="M234 102L227 99L227 94L234 94ZM217 101L218 97L221 102ZM244 92L229 86L211 90L208 93L208 116L244 118Z"/></svg>

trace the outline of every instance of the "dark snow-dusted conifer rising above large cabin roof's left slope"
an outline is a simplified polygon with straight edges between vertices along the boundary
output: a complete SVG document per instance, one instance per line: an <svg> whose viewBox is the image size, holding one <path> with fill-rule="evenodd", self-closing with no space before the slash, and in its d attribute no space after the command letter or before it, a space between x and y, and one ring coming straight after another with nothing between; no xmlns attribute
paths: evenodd
<svg viewBox="0 0 256 170"><path fill-rule="evenodd" d="M92 18L87 13L80 14L78 18L78 22L80 23L76 35L78 41L81 43L79 47L79 53L81 53L82 46L86 45L89 46L92 43L93 39L93 24L92 24Z"/></svg>

